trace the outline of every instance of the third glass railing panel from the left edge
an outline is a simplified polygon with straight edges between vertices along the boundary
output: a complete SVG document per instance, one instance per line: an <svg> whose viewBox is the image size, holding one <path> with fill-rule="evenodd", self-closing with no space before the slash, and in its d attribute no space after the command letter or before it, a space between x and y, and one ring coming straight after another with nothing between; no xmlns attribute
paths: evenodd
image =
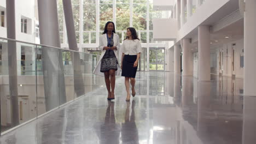
<svg viewBox="0 0 256 144"><path fill-rule="evenodd" d="M74 52L62 50L63 74L65 77L66 102L74 100ZM65 101L62 101L64 104Z"/></svg>

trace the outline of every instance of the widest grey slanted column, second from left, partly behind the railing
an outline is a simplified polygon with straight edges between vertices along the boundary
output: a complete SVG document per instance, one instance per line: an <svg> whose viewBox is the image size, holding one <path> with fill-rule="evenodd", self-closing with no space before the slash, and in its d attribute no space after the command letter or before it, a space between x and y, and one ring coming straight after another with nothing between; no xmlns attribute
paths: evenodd
<svg viewBox="0 0 256 144"><path fill-rule="evenodd" d="M57 2L38 0L40 44L60 47ZM62 51L42 47L46 111L66 103Z"/></svg>

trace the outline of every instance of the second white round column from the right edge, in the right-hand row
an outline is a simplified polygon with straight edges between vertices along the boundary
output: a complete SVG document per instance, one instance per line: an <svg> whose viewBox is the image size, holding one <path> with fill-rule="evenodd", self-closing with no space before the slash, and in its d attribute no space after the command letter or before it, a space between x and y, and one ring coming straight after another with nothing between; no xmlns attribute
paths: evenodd
<svg viewBox="0 0 256 144"><path fill-rule="evenodd" d="M210 81L210 27L198 27L198 79L199 81Z"/></svg>

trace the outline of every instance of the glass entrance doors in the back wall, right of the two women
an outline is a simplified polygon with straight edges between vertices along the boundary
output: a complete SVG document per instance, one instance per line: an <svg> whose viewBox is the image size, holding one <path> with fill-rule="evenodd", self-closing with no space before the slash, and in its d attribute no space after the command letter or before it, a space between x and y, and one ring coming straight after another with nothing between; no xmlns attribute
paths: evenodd
<svg viewBox="0 0 256 144"><path fill-rule="evenodd" d="M150 47L149 49L149 70L165 70L165 48Z"/></svg>

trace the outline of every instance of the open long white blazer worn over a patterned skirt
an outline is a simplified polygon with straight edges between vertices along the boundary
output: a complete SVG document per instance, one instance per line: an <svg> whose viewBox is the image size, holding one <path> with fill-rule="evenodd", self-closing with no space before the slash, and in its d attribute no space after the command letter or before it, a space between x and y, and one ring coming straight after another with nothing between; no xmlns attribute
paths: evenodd
<svg viewBox="0 0 256 144"><path fill-rule="evenodd" d="M120 41L119 41L118 34L115 34L115 33L113 33L113 34L114 34L113 35L114 46L117 46L117 50L114 50L114 53L115 53L115 57L117 57L117 61L118 61L118 50L120 49ZM101 56L97 62L94 72L93 72L95 75L99 75L99 76L104 76L104 73L101 73L101 60L106 52L106 50L103 50L104 46L108 46L107 34L102 34L100 37L100 45L98 46L98 49L101 50ZM118 70L115 71L115 75L119 75L120 70L121 70L121 68L120 68L120 64L118 61Z"/></svg>

